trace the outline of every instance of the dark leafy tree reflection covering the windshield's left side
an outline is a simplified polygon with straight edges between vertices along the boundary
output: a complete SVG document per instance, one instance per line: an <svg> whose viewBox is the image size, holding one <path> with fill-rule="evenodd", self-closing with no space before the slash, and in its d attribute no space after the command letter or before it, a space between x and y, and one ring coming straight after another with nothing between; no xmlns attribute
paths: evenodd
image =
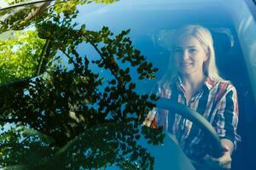
<svg viewBox="0 0 256 170"><path fill-rule="evenodd" d="M23 19L22 12L1 23L2 32L34 28L26 31L27 37L22 39L25 49L14 39L1 46L3 50L17 47L10 53L12 57L19 54L19 59L12 59L15 64L32 65L20 67L17 77L10 76L15 71L9 62L3 66L6 72L1 78L9 75L3 82L23 78L0 88L1 124L14 123L13 128L2 133L3 167L153 168L154 158L137 140L141 133L154 144L164 138L160 129L152 132L140 127L157 98L154 94L136 93L131 70L143 80L154 78L157 69L133 47L129 30L114 35L107 26L100 31L87 30L85 25L78 28L73 22L79 14L76 6L89 2L55 3L18 26L13 23ZM81 45L94 48L96 57L84 56L78 48ZM28 61L20 60L22 57ZM103 77L101 71L111 74Z"/></svg>

